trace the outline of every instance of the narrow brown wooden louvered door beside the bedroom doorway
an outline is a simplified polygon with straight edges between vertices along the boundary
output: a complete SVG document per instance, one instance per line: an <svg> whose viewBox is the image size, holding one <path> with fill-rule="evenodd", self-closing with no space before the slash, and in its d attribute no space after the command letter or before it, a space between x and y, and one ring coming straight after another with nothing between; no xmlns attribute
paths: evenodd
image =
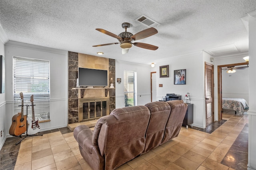
<svg viewBox="0 0 256 170"><path fill-rule="evenodd" d="M213 65L205 63L206 126L214 121Z"/></svg>

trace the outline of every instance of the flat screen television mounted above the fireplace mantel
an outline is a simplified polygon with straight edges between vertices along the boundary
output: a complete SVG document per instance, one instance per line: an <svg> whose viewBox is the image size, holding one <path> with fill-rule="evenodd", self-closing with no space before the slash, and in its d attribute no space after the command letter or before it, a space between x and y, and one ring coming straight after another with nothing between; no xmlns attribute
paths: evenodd
<svg viewBox="0 0 256 170"><path fill-rule="evenodd" d="M78 87L108 86L108 70L78 68Z"/></svg>

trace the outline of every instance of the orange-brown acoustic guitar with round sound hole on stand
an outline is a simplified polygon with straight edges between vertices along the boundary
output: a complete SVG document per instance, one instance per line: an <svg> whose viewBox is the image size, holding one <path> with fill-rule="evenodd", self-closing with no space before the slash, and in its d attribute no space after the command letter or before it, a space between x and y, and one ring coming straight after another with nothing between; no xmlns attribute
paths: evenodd
<svg viewBox="0 0 256 170"><path fill-rule="evenodd" d="M20 92L21 98L21 113L18 113L12 117L12 125L9 129L9 134L12 136L20 136L27 130L27 115L23 115L23 93Z"/></svg>

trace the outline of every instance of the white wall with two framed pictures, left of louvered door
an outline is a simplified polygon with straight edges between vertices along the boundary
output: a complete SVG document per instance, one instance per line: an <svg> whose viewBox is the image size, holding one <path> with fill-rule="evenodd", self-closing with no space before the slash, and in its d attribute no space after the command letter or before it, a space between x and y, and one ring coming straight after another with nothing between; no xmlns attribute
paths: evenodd
<svg viewBox="0 0 256 170"><path fill-rule="evenodd" d="M205 58L205 59L204 59ZM189 53L186 55L170 57L158 61L151 72L156 71L156 93L161 99L167 93L181 95L182 99L186 93L190 93L191 103L194 104L194 123L196 127L206 126L205 97L204 97L204 61L210 62L210 56L203 51ZM169 65L169 77L160 78L159 66ZM174 70L186 69L186 84L174 84ZM159 87L163 84L163 87ZM186 102L186 101L185 101Z"/></svg>

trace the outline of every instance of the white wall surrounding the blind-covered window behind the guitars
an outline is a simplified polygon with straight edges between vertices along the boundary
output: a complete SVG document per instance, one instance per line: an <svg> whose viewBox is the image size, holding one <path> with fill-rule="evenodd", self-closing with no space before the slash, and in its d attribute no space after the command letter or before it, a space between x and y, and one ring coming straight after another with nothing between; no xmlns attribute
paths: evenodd
<svg viewBox="0 0 256 170"><path fill-rule="evenodd" d="M68 124L68 52L9 41L5 45L7 130L12 124L12 116L17 114L14 113L13 56L50 61L50 121L39 123L40 131L66 127Z"/></svg>

